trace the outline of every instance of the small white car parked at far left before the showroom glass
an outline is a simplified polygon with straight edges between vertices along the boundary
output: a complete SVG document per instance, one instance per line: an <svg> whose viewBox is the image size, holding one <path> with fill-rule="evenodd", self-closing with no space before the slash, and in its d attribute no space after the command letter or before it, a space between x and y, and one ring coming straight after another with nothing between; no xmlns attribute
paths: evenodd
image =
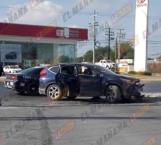
<svg viewBox="0 0 161 145"><path fill-rule="evenodd" d="M22 69L18 65L6 65L3 67L4 74L19 73Z"/></svg>

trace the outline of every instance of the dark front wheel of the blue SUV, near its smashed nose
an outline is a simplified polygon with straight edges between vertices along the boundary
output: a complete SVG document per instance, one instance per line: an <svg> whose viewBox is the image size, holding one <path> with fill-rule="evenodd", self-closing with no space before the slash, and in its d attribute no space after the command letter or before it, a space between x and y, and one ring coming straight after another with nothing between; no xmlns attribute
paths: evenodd
<svg viewBox="0 0 161 145"><path fill-rule="evenodd" d="M121 101L122 93L121 89L117 85L108 85L105 91L106 100L109 103L115 103L117 101Z"/></svg>

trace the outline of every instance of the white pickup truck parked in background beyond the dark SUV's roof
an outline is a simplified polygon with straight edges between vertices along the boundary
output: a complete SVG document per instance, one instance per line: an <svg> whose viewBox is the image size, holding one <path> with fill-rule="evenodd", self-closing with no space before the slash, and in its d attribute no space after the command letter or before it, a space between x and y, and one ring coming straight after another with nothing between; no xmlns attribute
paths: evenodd
<svg viewBox="0 0 161 145"><path fill-rule="evenodd" d="M114 63L112 60L100 60L96 63L96 65L103 66L107 69L114 69L117 67L117 64Z"/></svg>

